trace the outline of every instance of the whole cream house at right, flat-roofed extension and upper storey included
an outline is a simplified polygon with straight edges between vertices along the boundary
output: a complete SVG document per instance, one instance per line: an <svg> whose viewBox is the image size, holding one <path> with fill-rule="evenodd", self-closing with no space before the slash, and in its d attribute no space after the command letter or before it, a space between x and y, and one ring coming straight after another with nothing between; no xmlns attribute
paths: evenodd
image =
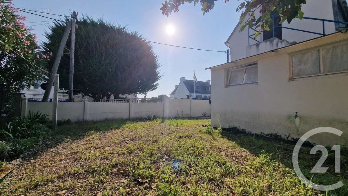
<svg viewBox="0 0 348 196"><path fill-rule="evenodd" d="M308 18L284 22L274 31L261 33L258 41L252 39L254 30L239 32L237 25L225 43L231 61L207 68L211 70L213 125L219 125L220 116L224 128L290 138L332 127L343 134L320 133L309 141L346 144L348 32L344 29L348 17L346 3L341 2L307 0L302 10Z"/></svg>

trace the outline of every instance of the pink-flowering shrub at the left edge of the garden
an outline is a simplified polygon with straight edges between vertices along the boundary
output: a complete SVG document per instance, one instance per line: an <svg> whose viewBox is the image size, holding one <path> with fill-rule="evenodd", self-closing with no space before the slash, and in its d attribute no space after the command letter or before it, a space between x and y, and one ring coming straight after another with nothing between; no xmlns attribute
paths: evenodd
<svg viewBox="0 0 348 196"><path fill-rule="evenodd" d="M0 114L11 92L29 88L43 80L49 54L40 52L36 36L16 14L11 1L0 0Z"/></svg>

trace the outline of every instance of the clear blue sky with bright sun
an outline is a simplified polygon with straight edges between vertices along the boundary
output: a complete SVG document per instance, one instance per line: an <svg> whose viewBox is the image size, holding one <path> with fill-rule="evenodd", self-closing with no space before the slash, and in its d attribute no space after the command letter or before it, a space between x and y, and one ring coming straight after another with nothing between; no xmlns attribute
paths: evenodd
<svg viewBox="0 0 348 196"><path fill-rule="evenodd" d="M79 16L103 18L105 21L126 26L129 31L138 31L144 38L154 42L206 50L226 51L228 49L224 42L239 20L240 13L235 11L239 1L230 0L224 3L224 0L218 0L213 10L204 16L200 5L185 3L179 7L179 12L172 13L169 17L162 15L159 10L164 1L14 0L13 2L14 7L17 8L41 10L60 15L69 15L72 11L77 11ZM28 22L50 20L24 12L20 14L27 17L25 21L27 26L40 24ZM42 15L59 19L58 16ZM173 33L166 31L168 25L174 29ZM36 25L32 28L39 43L46 40L44 37L45 30L48 30L46 25ZM210 70L205 68L227 61L227 54L222 52L190 50L155 43L152 45L154 52L159 56L160 73L164 75L158 81L158 89L148 92L148 98L162 94L169 96L175 85L179 84L180 77L193 80L193 70L199 81L210 80Z"/></svg>

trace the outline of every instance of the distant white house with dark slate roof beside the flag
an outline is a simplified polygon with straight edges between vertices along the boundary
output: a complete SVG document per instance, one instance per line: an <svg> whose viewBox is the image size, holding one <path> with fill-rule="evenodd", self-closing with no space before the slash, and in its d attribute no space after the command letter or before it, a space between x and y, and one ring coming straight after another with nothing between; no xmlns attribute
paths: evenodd
<svg viewBox="0 0 348 196"><path fill-rule="evenodd" d="M171 98L187 98L188 95L191 95L193 99L202 99L210 96L210 86L210 80L194 82L181 77L180 83L175 85L175 89L169 96Z"/></svg>

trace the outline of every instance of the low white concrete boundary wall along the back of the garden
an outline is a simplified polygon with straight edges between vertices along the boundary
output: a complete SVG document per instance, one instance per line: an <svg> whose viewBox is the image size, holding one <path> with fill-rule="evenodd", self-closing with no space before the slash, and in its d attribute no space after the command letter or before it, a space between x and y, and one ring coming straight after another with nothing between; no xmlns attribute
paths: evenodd
<svg viewBox="0 0 348 196"><path fill-rule="evenodd" d="M28 116L29 111L39 111L48 114L49 119L52 119L52 102L22 102L22 116ZM133 119L155 115L159 118L186 118L203 116L203 112L207 116L211 114L209 100L167 98L163 103L58 102L57 120Z"/></svg>

